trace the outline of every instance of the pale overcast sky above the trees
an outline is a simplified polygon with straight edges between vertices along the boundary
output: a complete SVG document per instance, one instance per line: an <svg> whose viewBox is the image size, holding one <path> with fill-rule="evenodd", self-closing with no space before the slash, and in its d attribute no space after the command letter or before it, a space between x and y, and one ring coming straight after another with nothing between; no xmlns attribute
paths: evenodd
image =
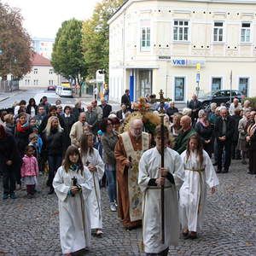
<svg viewBox="0 0 256 256"><path fill-rule="evenodd" d="M21 10L32 38L55 38L64 20L90 18L100 0L2 0Z"/></svg>

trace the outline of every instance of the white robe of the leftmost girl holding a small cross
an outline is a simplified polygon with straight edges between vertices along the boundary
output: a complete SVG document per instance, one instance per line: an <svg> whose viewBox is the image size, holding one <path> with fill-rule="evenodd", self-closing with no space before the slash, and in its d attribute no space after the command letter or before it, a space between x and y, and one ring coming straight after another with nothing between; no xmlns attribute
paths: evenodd
<svg viewBox="0 0 256 256"><path fill-rule="evenodd" d="M76 177L82 192L75 196L67 195ZM59 199L60 237L62 253L77 252L90 247L90 214L88 196L93 187L90 171L84 166L84 172L65 171L61 166L54 178L53 187Z"/></svg>

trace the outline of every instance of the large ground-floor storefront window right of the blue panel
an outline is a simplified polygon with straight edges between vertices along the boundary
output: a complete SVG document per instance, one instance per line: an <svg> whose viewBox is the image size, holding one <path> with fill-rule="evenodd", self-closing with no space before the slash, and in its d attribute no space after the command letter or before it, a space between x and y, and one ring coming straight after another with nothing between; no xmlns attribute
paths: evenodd
<svg viewBox="0 0 256 256"><path fill-rule="evenodd" d="M152 70L138 70L137 99L152 94Z"/></svg>

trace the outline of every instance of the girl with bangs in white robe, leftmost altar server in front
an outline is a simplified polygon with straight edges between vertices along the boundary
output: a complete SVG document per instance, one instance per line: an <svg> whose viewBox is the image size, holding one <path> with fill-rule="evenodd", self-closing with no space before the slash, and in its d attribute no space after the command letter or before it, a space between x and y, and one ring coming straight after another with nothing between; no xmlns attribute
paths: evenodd
<svg viewBox="0 0 256 256"><path fill-rule="evenodd" d="M78 148L67 148L53 186L59 199L62 253L71 256L90 247L91 236L88 197L93 189L93 180L90 171L83 165Z"/></svg>

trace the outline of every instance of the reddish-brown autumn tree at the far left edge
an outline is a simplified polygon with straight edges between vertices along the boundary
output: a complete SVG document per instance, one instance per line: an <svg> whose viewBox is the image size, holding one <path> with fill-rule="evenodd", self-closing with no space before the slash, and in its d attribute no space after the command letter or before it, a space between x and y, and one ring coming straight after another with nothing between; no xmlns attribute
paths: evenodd
<svg viewBox="0 0 256 256"><path fill-rule="evenodd" d="M22 26L20 9L0 2L0 76L21 79L32 69L32 39Z"/></svg>

